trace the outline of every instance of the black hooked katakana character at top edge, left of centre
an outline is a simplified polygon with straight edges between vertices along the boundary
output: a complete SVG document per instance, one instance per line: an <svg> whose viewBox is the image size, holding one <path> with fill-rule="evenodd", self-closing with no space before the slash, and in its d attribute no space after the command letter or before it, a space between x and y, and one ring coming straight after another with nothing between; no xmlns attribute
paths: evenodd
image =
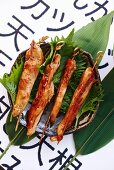
<svg viewBox="0 0 114 170"><path fill-rule="evenodd" d="M33 5L21 6L21 9L31 9L31 8L34 8L35 6L39 5L39 4L42 4L45 7L44 11L41 14L39 14L38 16L35 16L34 14L31 14L32 18L37 20L37 19L41 18L48 11L48 9L50 8L50 6L48 4L46 4L44 1L38 0Z"/></svg>

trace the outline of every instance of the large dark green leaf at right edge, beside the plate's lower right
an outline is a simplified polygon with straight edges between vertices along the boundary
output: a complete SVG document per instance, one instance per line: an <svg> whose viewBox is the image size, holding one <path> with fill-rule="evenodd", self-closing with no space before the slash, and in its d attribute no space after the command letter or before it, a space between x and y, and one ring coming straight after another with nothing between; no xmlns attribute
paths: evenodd
<svg viewBox="0 0 114 170"><path fill-rule="evenodd" d="M103 80L102 86L104 97L94 121L74 133L76 150L82 155L94 152L114 139L114 69Z"/></svg>

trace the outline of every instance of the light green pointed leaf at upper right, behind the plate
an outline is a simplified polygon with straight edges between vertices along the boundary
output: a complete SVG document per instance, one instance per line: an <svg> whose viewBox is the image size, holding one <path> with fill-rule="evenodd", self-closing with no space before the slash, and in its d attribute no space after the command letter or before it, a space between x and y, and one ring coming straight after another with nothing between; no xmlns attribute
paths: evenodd
<svg viewBox="0 0 114 170"><path fill-rule="evenodd" d="M114 11L82 27L73 36L73 46L78 46L96 57L98 51L105 52L109 39Z"/></svg>

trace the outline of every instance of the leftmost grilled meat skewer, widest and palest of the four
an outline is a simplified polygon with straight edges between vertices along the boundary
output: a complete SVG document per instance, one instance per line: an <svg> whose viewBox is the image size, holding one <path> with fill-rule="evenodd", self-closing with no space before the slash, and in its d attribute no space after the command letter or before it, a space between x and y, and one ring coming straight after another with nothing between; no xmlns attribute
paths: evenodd
<svg viewBox="0 0 114 170"><path fill-rule="evenodd" d="M26 52L25 63L18 85L16 101L13 106L12 115L20 116L25 109L33 84L38 76L38 65L44 62L44 56L39 44L33 40L30 49Z"/></svg>

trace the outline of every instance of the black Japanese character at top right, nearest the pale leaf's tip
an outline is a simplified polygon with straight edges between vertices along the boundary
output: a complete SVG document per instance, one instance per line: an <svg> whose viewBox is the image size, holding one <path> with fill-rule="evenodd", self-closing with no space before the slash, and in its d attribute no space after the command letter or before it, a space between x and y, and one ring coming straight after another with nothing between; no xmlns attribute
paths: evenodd
<svg viewBox="0 0 114 170"><path fill-rule="evenodd" d="M106 15L106 14L108 13L108 10L105 8L105 5L106 5L108 2L109 2L109 1L107 1L107 0L106 0L103 4L100 4L100 3L98 3L98 2L94 2L94 4L97 5L98 7L97 7L96 9L94 9L93 11L86 13L85 16L92 15L92 14L94 14L95 12L99 11L100 9L103 9L103 10L104 10L103 16ZM95 19L94 19L93 17L91 17L91 20L92 20L92 21L95 21Z"/></svg>

